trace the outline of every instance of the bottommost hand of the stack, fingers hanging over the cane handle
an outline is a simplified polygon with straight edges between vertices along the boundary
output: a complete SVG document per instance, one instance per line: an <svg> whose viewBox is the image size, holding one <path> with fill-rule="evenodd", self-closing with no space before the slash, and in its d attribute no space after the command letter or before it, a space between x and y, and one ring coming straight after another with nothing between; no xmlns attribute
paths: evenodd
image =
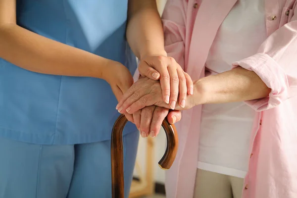
<svg viewBox="0 0 297 198"><path fill-rule="evenodd" d="M147 106L133 113L134 123L143 138L148 135L157 136L166 116L168 122L174 124L181 120L182 114L178 110L169 110L155 105Z"/></svg>

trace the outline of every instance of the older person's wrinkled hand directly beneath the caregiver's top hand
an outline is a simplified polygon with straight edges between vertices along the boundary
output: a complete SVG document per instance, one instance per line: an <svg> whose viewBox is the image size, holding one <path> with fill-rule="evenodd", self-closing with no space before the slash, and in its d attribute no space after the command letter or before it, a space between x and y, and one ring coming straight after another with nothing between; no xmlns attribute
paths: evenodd
<svg viewBox="0 0 297 198"><path fill-rule="evenodd" d="M196 92L197 89L194 89L194 95L187 97L186 106L184 108L177 105L175 109L189 109L197 105L199 102L199 93ZM120 113L128 112L131 114L150 105L169 108L169 105L163 101L161 93L162 91L159 81L154 81L148 78L139 79L120 99L118 111Z"/></svg>

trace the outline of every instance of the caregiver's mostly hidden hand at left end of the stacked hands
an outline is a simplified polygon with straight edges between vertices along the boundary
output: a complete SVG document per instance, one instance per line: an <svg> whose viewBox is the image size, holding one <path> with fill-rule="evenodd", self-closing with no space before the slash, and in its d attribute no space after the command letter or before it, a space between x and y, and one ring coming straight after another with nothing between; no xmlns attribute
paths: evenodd
<svg viewBox="0 0 297 198"><path fill-rule="evenodd" d="M102 71L102 78L110 85L113 94L119 101L123 93L133 84L133 77L130 71L121 63L110 60ZM104 94L104 93L103 93ZM103 104L104 105L104 104ZM134 123L132 114L124 112L126 118Z"/></svg>

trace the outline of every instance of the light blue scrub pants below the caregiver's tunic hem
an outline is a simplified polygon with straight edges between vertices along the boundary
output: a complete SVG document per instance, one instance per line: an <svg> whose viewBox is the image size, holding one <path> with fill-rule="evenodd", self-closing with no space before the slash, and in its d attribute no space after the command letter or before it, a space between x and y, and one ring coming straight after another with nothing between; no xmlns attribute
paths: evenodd
<svg viewBox="0 0 297 198"><path fill-rule="evenodd" d="M123 137L128 198L139 132ZM0 198L111 198L110 140L35 145L0 138Z"/></svg>

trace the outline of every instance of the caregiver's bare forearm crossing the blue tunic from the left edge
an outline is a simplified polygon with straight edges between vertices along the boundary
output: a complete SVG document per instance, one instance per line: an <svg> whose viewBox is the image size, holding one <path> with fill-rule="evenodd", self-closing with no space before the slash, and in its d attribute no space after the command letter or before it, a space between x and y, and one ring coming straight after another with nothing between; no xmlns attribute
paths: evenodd
<svg viewBox="0 0 297 198"><path fill-rule="evenodd" d="M0 57L24 69L52 75L101 78L110 60L50 40L16 24L0 26Z"/></svg>

